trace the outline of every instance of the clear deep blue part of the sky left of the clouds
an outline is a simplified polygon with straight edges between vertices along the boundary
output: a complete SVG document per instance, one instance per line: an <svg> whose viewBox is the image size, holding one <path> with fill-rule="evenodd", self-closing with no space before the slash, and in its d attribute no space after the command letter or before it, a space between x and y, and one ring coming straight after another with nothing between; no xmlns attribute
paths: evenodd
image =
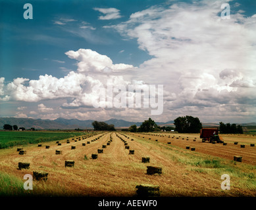
<svg viewBox="0 0 256 210"><path fill-rule="evenodd" d="M71 49L93 49L107 54L114 62L135 66L150 58L138 49L136 40L123 41L120 34L102 27L127 20L130 14L148 7L152 1L142 1L140 5L136 1L32 1L33 20L23 18L26 1L1 3L1 25L4 29L1 33L4 40L1 41L1 51L5 52L1 54L1 70L8 69L6 79L27 75L30 75L30 79L37 79L42 73L64 75L58 70L62 64L58 60L65 62L66 68L76 70L64 54ZM122 10L121 18L99 20L100 12L93 9L96 7L116 7ZM82 26L88 28L80 28ZM10 61L13 58L14 63Z"/></svg>

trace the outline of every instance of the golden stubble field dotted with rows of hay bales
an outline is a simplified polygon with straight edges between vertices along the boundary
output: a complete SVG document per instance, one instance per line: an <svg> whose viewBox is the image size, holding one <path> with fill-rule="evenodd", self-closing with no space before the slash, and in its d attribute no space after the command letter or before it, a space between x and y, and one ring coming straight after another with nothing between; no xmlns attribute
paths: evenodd
<svg viewBox="0 0 256 210"><path fill-rule="evenodd" d="M117 135L126 140L134 154L129 154ZM113 141L103 154L91 159L91 154L97 154L97 149L107 144L111 136ZM97 137L100 138L91 142ZM160 186L161 196L256 196L256 148L250 146L255 137L222 138L226 146L201 142L199 134L106 132L77 142L69 138L70 144L64 139L61 146L56 142L45 142L41 147L23 146L24 155L19 155L16 147L0 150L0 174L9 181L1 194L135 196L136 185L155 184ZM236 141L238 144L234 145ZM245 144L245 148L240 148L240 144ZM71 150L71 146L76 149ZM195 151L186 150L186 146L195 147ZM62 150L63 154L56 155L55 150ZM243 157L242 163L233 161L236 155ZM149 157L150 163L142 163L142 157ZM74 167L64 166L69 159L75 161ZM30 169L18 170L18 162L30 163ZM162 167L163 173L147 175L147 165ZM34 180L33 190L16 190L17 186L23 188L25 174L33 175L38 170L49 173L47 181ZM230 176L230 190L220 187L223 174Z"/></svg>

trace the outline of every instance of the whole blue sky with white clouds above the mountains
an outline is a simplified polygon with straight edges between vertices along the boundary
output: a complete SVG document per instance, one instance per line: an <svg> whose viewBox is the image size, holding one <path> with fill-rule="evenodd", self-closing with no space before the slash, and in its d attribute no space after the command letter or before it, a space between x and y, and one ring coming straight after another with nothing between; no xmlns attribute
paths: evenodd
<svg viewBox="0 0 256 210"><path fill-rule="evenodd" d="M256 121L256 1L26 3L0 0L0 117ZM163 85L163 112L111 107L109 92L95 108L109 84L124 88L113 101Z"/></svg>

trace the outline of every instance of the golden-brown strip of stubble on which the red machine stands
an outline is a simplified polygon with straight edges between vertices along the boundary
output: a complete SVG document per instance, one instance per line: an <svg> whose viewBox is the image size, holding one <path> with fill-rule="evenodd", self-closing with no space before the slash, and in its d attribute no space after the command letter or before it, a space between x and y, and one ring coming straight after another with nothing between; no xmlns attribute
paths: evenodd
<svg viewBox="0 0 256 210"><path fill-rule="evenodd" d="M168 136L156 137L156 136L142 135L142 134L134 134L134 137L138 137L138 138L144 137L147 140L149 140L149 138L151 138L150 140L157 139L158 142L163 144L167 144L167 142L171 142L172 145L178 146L184 149L186 148L186 146L190 146L190 148L191 147L195 148L195 152L201 152L203 154L209 154L211 156L217 156L220 158L234 159L234 156L242 156L243 163L256 165L256 146L253 147L248 144L245 145L245 148L240 147L241 143L234 144L234 142L228 142L227 145L224 146L222 143L211 144L210 142L202 142L201 139L198 137L195 139L195 137L188 137L188 135L179 135L179 134L170 135L170 138L168 138ZM195 141L193 141L194 139ZM255 142L256 142L256 138L255 138Z"/></svg>

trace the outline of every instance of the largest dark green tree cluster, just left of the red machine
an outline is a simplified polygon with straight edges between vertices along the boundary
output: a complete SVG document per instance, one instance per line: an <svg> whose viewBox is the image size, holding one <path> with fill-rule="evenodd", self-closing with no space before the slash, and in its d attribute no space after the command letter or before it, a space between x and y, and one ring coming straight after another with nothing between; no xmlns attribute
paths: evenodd
<svg viewBox="0 0 256 210"><path fill-rule="evenodd" d="M174 119L175 131L178 133L199 133L202 123L197 117L186 116Z"/></svg>

